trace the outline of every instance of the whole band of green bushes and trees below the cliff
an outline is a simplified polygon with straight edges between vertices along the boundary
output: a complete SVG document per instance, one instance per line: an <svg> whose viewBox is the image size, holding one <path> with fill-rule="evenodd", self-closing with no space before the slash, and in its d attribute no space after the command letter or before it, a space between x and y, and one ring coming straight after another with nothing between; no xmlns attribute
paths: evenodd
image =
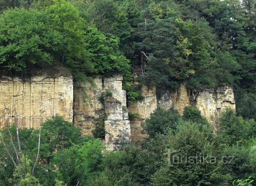
<svg viewBox="0 0 256 186"><path fill-rule="evenodd" d="M103 117L101 119L103 121ZM158 108L144 123L143 130L149 137L141 147L126 144L121 151L102 153L101 139L81 137L79 129L57 115L42 124L39 164L33 176L29 173L35 159L38 130L19 129L26 157L18 169L15 170L10 159L4 158L8 156L3 148L0 149L0 163L5 165L0 168L3 178L0 183L7 186L72 186L78 181L81 185L95 186L231 185L234 179L256 175L256 143L255 138L250 138L253 122L227 109L219 119L220 135L216 136L196 108L186 107L182 117L174 109ZM237 133L230 132L234 129ZM16 129L10 128L10 132L16 144ZM7 130L2 130L1 134L6 142L10 141ZM7 144L11 149L11 144ZM209 160L215 156L216 162L173 163L169 167L165 155L168 150L177 151L174 157L204 156ZM221 162L223 156L234 159L224 164ZM240 182L243 181L234 183Z"/></svg>

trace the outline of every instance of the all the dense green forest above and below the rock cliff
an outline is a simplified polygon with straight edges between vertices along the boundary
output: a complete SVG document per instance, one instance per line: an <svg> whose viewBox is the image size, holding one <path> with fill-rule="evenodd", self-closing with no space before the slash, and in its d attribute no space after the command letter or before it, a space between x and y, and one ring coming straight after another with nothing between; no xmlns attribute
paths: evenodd
<svg viewBox="0 0 256 186"><path fill-rule="evenodd" d="M122 74L128 103L142 98L135 74L158 96L182 82L196 90L230 85L236 99L216 134L196 108L157 109L140 147L124 142L118 152L103 153L101 140L58 115L42 131L1 130L0 185L255 184L256 0L0 0L0 13L2 74L57 69L75 83ZM169 149L217 162L168 166Z"/></svg>

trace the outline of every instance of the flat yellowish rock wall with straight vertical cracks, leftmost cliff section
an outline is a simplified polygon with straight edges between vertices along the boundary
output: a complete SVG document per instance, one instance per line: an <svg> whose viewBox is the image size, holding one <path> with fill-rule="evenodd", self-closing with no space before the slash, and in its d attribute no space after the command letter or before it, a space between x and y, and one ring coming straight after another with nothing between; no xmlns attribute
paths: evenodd
<svg viewBox="0 0 256 186"><path fill-rule="evenodd" d="M73 120L72 77L1 77L0 95L0 126L15 123L20 128L38 128L56 114Z"/></svg>

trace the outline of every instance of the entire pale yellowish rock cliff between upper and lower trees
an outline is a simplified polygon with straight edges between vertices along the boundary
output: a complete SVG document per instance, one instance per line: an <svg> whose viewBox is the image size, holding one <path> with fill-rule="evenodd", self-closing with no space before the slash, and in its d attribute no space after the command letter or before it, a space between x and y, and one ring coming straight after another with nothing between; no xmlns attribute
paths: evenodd
<svg viewBox="0 0 256 186"><path fill-rule="evenodd" d="M180 114L185 106L196 106L214 130L218 127L216 119L220 112L225 107L236 108L232 87L197 92L187 90L184 84L166 91L160 98L155 87L142 86L144 99L127 107L122 80L122 76L93 78L91 83L74 87L71 76L45 75L26 80L0 77L0 127L19 122L20 128L38 128L40 122L59 114L80 127L84 135L91 135L97 122L104 118L105 150L115 151L120 148L121 140L131 139L136 143L143 139L141 122L158 106L174 107ZM138 117L130 122L128 111Z"/></svg>

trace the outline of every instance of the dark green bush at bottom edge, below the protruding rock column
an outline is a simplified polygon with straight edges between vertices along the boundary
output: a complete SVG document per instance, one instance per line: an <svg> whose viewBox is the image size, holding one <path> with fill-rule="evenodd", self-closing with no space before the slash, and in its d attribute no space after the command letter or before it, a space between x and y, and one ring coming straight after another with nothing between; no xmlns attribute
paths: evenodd
<svg viewBox="0 0 256 186"><path fill-rule="evenodd" d="M121 152L106 153L105 169L89 185L146 185L152 174L152 157L138 147L127 145Z"/></svg>

